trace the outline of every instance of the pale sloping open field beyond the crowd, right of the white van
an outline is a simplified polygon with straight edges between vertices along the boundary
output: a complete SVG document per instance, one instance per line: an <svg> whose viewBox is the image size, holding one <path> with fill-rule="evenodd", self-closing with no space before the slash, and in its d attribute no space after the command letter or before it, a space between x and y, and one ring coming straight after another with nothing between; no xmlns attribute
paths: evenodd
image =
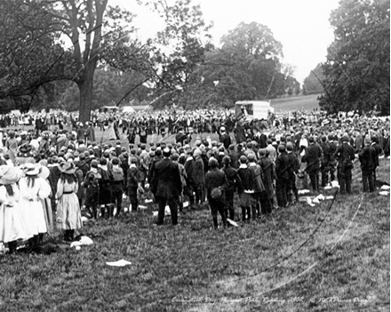
<svg viewBox="0 0 391 312"><path fill-rule="evenodd" d="M314 108L319 108L319 101L317 98L321 94L306 95L302 97L286 98L270 100L272 108L275 108L275 112L286 112L290 110L305 110L313 111Z"/></svg>

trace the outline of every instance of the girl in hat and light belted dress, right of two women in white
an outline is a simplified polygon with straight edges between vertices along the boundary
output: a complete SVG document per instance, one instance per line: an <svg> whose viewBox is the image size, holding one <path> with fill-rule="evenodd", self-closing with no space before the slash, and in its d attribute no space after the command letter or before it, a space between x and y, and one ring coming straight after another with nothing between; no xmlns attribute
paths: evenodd
<svg viewBox="0 0 391 312"><path fill-rule="evenodd" d="M65 231L64 240L71 242L74 239L75 230L82 228L82 214L77 198L78 181L75 175L76 166L73 163L60 164L60 180L57 184L56 198L57 224Z"/></svg>

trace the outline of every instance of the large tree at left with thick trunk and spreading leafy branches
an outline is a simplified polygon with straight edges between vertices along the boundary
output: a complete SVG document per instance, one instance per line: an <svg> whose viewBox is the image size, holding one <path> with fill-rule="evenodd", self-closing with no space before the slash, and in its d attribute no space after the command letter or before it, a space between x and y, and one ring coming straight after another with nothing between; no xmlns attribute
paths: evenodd
<svg viewBox="0 0 391 312"><path fill-rule="evenodd" d="M44 84L70 80L79 90L80 120L89 120L93 77L107 46L103 37L108 37L105 44L112 44L129 35L132 28L124 25L132 22L132 14L108 7L108 0L11 0L2 2L0 11L5 27L0 70L9 72L0 72L0 83L8 86L0 98L34 97ZM67 42L71 47L64 49ZM16 60L20 64L12 66Z"/></svg>

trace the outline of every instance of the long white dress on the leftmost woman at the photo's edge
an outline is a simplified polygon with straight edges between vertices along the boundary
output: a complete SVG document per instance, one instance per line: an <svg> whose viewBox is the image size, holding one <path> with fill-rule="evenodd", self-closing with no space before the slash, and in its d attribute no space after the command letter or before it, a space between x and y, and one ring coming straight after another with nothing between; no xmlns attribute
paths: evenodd
<svg viewBox="0 0 391 312"><path fill-rule="evenodd" d="M31 238L25 231L18 199L20 191L16 184L12 185L13 196L9 196L4 186L0 187L0 243L27 240ZM11 203L12 205L6 205Z"/></svg>

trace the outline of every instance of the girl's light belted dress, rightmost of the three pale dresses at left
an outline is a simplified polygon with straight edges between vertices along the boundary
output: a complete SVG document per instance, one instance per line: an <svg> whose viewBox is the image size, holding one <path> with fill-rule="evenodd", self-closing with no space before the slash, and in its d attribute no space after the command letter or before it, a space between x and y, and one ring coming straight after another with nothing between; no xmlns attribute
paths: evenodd
<svg viewBox="0 0 391 312"><path fill-rule="evenodd" d="M80 212L79 199L77 197L78 184L59 180L57 183L57 226L61 229L82 228L82 213Z"/></svg>

